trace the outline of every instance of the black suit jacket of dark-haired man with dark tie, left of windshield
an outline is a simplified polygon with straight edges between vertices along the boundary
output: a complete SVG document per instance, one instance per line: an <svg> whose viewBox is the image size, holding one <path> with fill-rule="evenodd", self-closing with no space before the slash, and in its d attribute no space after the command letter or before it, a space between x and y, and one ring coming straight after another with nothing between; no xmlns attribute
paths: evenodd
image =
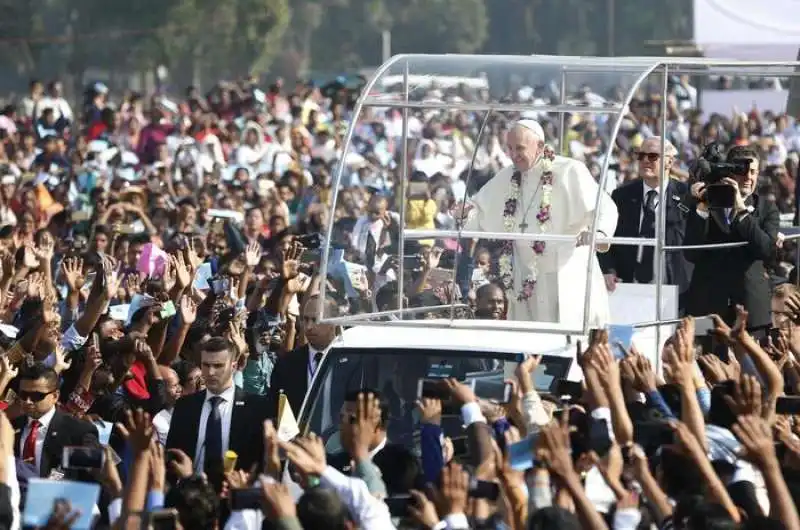
<svg viewBox="0 0 800 530"><path fill-rule="evenodd" d="M195 392L180 398L175 403L167 434L167 449L180 449L194 459L197 450L197 435L200 429L200 414L206 400L206 392ZM248 394L236 388L233 397L228 450L238 455L236 469L249 471L253 465L258 469L264 460L263 423L266 419L266 403L262 396ZM215 484L219 487L219 484Z"/></svg>

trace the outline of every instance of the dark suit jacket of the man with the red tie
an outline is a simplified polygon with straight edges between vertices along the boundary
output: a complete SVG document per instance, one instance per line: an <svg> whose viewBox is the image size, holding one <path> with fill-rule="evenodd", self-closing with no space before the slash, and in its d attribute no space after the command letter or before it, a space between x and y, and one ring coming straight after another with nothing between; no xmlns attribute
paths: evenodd
<svg viewBox="0 0 800 530"><path fill-rule="evenodd" d="M14 418L11 425L14 427L14 456L20 458L20 441L22 432L28 424L28 416ZM53 469L61 467L64 447L67 446L99 446L97 427L85 420L56 410L42 447L42 457L39 462L39 476L47 478ZM66 470L65 475L75 480L92 481L92 478L83 473Z"/></svg>

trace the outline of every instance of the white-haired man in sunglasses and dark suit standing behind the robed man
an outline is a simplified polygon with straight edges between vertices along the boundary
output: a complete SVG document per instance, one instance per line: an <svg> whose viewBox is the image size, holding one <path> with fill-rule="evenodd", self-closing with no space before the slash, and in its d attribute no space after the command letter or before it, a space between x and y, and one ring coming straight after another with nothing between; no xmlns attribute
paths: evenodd
<svg viewBox="0 0 800 530"><path fill-rule="evenodd" d="M669 175L675 160L676 150L665 141L664 173ZM615 237L655 238L657 234L658 207L666 204L664 244L678 246L683 243L686 216L689 208L684 201L689 194L686 184L669 179L664 197L661 197L661 138L652 137L642 142L638 153L639 178L615 189L611 198L617 205L619 218ZM668 178L668 177L667 177ZM606 287L609 291L618 282L655 283L655 247L612 245L605 254L598 254ZM680 251L667 252L664 256L664 283L677 285L680 297L678 305L685 307L685 293L692 278L692 265Z"/></svg>

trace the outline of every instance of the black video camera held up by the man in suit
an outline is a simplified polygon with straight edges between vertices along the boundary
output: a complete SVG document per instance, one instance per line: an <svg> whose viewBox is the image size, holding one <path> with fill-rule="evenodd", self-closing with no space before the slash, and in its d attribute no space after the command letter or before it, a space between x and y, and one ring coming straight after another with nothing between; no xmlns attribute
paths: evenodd
<svg viewBox="0 0 800 530"><path fill-rule="evenodd" d="M736 202L736 189L722 179L735 175L745 175L750 170L750 160L725 160L724 147L718 142L708 144L697 159L692 178L706 185L706 202L709 208L733 208Z"/></svg>

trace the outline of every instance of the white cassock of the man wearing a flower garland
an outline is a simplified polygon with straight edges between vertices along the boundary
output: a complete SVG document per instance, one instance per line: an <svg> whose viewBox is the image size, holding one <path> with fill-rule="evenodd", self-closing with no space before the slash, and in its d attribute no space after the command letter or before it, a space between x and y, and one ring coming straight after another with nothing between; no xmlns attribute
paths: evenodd
<svg viewBox="0 0 800 530"><path fill-rule="evenodd" d="M499 171L471 199L474 206L465 223L465 230L506 232L503 209L509 198L513 167ZM550 226L547 233L575 236L589 230L594 217L595 201L599 187L582 162L556 156L552 164L553 187L550 199ZM520 197L517 200L516 223L510 230L541 233L536 215L539 213L542 186L541 162L522 175ZM596 229L613 235L617 227L617 207L611 197L603 192L600 217ZM536 256L532 241L514 242L514 291L507 292L509 320L558 322L569 329L583 328L583 306L586 292L586 271L591 258L592 287L589 306L591 328L610 323L608 292L597 256L590 256L588 246L576 247L574 242L546 241L545 250ZM536 260L536 286L533 296L517 300L526 278L532 274Z"/></svg>

